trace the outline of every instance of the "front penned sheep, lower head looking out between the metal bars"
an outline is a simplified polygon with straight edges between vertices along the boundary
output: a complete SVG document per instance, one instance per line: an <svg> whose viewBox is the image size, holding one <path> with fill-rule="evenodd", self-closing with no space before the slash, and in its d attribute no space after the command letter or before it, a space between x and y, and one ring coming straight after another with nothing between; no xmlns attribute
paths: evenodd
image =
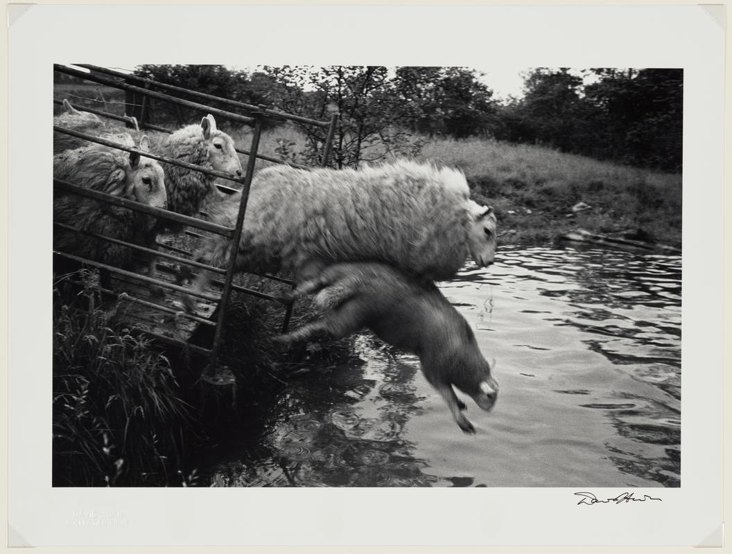
<svg viewBox="0 0 732 554"><path fill-rule="evenodd" d="M134 145L130 135L116 135L116 142ZM142 137L139 149L149 151L147 137ZM53 157L53 177L154 208L166 207L163 168L139 153L97 144L67 151ZM71 193L57 194L53 199L53 221L154 248L157 218L106 202ZM135 266L131 248L58 227L53 232L53 249L107 265ZM152 258L149 276L154 275Z"/></svg>

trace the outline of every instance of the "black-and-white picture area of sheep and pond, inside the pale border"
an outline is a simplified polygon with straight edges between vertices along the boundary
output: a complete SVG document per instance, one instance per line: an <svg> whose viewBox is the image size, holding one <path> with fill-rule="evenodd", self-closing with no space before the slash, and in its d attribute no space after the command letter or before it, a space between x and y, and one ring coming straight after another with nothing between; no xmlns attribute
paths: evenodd
<svg viewBox="0 0 732 554"><path fill-rule="evenodd" d="M238 235L56 194L54 486L680 485L682 69L54 69L57 184Z"/></svg>

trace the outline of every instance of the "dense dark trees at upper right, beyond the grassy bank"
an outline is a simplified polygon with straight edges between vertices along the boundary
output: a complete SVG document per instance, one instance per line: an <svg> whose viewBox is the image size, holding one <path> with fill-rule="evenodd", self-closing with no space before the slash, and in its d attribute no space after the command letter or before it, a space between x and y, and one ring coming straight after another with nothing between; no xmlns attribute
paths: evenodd
<svg viewBox="0 0 732 554"><path fill-rule="evenodd" d="M537 68L499 110L496 137L639 167L681 171L681 69Z"/></svg>

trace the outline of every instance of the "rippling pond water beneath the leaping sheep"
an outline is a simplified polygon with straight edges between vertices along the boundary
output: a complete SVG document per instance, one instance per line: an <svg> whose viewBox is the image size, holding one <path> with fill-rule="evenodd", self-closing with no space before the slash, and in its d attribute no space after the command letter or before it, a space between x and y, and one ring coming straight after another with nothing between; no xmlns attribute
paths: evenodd
<svg viewBox="0 0 732 554"><path fill-rule="evenodd" d="M504 246L441 290L501 386L467 435L416 357L370 335L294 377L214 486L678 487L681 257Z"/></svg>

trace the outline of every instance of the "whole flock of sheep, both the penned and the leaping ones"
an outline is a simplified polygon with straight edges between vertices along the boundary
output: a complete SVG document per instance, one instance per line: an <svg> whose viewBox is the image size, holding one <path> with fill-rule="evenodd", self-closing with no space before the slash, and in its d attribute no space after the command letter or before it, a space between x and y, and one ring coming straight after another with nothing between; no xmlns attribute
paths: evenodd
<svg viewBox="0 0 732 554"><path fill-rule="evenodd" d="M212 115L201 124L156 139L127 132L64 101L54 124L108 138L211 170L242 175L234 141L217 129ZM86 143L54 133L54 178L78 186L206 217L234 227L240 194L217 192L214 178L195 170L158 163L139 153ZM154 250L171 224L136 211L73 194L56 194L54 221ZM130 248L90 235L56 230L54 249L108 265L135 269ZM236 256L236 270L288 273L295 289L282 300L314 295L324 316L278 339L304 341L317 335L340 338L369 328L384 341L419 356L428 382L447 402L455 421L474 432L466 406L453 385L490 410L498 385L463 316L435 281L455 276L468 256L480 266L493 263L496 217L492 208L470 200L465 176L401 160L359 170L299 170L286 165L257 172L238 244L219 235L201 240L195 259L223 266ZM149 276L154 256L148 257ZM201 271L193 289L209 280ZM151 288L153 295L162 291ZM195 309L193 296L187 308Z"/></svg>

